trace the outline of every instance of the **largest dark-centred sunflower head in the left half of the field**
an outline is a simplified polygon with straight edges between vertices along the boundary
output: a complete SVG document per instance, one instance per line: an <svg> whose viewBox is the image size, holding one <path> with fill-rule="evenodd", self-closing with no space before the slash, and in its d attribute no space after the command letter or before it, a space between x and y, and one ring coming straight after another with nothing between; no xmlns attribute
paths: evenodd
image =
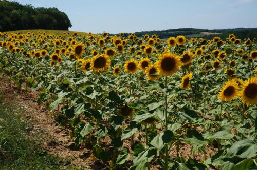
<svg viewBox="0 0 257 170"><path fill-rule="evenodd" d="M94 71L104 71L109 68L109 65L110 65L110 59L108 55L106 54L96 55L91 60L90 69Z"/></svg>

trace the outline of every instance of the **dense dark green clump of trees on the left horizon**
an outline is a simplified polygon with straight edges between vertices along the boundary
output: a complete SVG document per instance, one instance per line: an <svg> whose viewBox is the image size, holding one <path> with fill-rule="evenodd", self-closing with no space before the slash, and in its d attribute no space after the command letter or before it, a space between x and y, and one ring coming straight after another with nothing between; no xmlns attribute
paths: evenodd
<svg viewBox="0 0 257 170"><path fill-rule="evenodd" d="M28 4L0 1L0 32L26 29L68 30L71 26L68 16L57 8L35 8Z"/></svg>

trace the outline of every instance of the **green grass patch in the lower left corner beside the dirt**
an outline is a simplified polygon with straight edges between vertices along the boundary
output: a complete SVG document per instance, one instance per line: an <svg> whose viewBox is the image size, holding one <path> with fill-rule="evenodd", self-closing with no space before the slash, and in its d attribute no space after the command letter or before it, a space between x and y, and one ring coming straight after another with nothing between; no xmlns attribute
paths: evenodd
<svg viewBox="0 0 257 170"><path fill-rule="evenodd" d="M3 103L0 94L0 169L77 169L70 160L43 150L23 111L19 105Z"/></svg>

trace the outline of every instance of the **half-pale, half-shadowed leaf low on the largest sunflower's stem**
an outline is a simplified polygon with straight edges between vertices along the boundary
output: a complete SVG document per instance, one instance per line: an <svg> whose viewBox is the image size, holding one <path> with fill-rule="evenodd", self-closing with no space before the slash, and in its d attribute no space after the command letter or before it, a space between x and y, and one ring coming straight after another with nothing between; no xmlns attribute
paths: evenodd
<svg viewBox="0 0 257 170"><path fill-rule="evenodd" d="M169 143L172 140L172 137L172 131L167 130L164 133L157 134L150 143L158 150L161 150L164 147L164 144Z"/></svg>

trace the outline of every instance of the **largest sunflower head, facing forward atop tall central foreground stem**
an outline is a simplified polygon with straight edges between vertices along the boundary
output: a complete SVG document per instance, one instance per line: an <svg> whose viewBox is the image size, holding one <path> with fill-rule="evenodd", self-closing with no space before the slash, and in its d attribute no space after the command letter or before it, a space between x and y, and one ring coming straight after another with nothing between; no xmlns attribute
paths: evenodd
<svg viewBox="0 0 257 170"><path fill-rule="evenodd" d="M160 55L156 61L156 66L158 74L169 76L181 67L181 61L178 55L166 52Z"/></svg>

